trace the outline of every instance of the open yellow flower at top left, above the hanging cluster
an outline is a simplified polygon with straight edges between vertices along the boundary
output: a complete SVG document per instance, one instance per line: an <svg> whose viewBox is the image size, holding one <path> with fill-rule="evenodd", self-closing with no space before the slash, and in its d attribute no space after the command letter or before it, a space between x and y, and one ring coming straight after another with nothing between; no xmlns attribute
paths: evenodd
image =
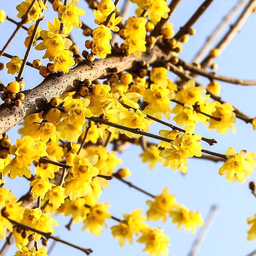
<svg viewBox="0 0 256 256"><path fill-rule="evenodd" d="M64 24L65 27L68 27L70 24L75 28L81 28L82 21L79 18L79 15L82 16L85 14L84 10L76 7L78 1L70 0L67 5L61 5L58 9L59 16L58 19Z"/></svg>

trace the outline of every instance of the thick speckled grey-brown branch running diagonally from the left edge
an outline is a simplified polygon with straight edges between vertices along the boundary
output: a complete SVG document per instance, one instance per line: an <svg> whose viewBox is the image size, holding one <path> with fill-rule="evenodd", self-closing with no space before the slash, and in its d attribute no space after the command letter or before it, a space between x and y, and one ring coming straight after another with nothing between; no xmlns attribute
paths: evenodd
<svg viewBox="0 0 256 256"><path fill-rule="evenodd" d="M143 53L141 58L134 55L109 56L104 60L96 60L94 65L83 62L61 77L51 75L32 90L24 91L25 100L22 101L22 106L0 106L0 133L9 131L24 117L42 111L52 97L60 97L64 92L76 90L79 82L84 79L95 80L106 76L111 68L117 68L118 72L132 68L133 61L144 60L150 64L161 58L167 56L155 46L151 51Z"/></svg>

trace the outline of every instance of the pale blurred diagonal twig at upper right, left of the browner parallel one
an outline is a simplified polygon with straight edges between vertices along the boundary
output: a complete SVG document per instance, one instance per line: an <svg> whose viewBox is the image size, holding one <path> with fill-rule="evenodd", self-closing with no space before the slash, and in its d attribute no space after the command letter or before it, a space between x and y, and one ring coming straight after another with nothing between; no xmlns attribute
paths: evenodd
<svg viewBox="0 0 256 256"><path fill-rule="evenodd" d="M207 37L204 45L201 47L199 52L193 58L192 62L199 62L204 57L205 53L209 50L211 44L215 41L221 31L228 25L229 21L236 15L236 13L244 6L248 0L239 0L238 3L228 12L228 14L221 20L220 24L212 31L210 36Z"/></svg>

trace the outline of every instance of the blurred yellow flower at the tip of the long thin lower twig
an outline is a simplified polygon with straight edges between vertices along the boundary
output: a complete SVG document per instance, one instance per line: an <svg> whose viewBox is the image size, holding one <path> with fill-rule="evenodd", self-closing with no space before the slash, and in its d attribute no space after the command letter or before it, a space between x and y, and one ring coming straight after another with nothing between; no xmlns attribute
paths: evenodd
<svg viewBox="0 0 256 256"><path fill-rule="evenodd" d="M157 221L161 219L163 222L167 220L166 213L172 211L176 206L176 198L169 193L168 188L164 188L159 196L156 196L154 201L148 200L147 204L150 208L147 211L148 220Z"/></svg>

